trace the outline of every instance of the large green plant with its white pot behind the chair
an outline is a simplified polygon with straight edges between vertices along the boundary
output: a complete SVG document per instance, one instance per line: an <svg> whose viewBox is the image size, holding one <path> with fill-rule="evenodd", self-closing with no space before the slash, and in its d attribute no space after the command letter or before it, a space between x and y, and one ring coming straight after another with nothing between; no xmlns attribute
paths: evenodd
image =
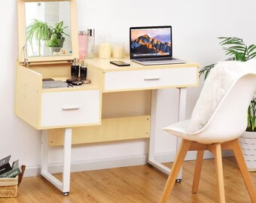
<svg viewBox="0 0 256 203"><path fill-rule="evenodd" d="M226 60L248 61L256 56L256 45L247 46L241 38L219 38L221 46L224 47L225 54L228 56ZM215 64L207 65L200 70L200 76L204 75L204 79ZM255 67L256 68L256 67ZM247 129L239 138L242 147L245 162L249 171L256 171L256 95L252 98L248 107Z"/></svg>

